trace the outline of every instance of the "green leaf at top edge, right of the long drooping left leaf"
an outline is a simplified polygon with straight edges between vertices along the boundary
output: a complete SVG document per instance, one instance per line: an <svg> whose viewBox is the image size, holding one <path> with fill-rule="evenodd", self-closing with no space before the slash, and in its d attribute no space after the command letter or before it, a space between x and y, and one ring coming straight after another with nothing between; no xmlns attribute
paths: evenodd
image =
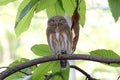
<svg viewBox="0 0 120 80"><path fill-rule="evenodd" d="M51 5L54 5L56 3L57 0L40 0L39 3L36 6L36 12L39 12Z"/></svg>

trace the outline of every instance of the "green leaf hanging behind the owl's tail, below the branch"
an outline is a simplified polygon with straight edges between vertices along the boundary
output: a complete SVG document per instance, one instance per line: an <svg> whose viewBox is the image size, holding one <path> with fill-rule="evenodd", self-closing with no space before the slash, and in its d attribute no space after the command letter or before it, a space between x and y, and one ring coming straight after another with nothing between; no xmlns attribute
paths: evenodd
<svg viewBox="0 0 120 80"><path fill-rule="evenodd" d="M61 69L59 61L56 61L55 63L56 64L52 69L52 72L54 74L54 76L52 77L52 80L68 80L69 70L70 70L69 63L67 63L67 68L65 70Z"/></svg>

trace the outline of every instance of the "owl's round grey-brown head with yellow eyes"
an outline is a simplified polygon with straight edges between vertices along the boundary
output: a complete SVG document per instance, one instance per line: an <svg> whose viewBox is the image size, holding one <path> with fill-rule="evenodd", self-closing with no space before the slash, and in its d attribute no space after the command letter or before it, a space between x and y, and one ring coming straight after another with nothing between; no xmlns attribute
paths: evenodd
<svg viewBox="0 0 120 80"><path fill-rule="evenodd" d="M62 26L64 24L67 24L67 21L62 16L53 16L48 20L49 26Z"/></svg>

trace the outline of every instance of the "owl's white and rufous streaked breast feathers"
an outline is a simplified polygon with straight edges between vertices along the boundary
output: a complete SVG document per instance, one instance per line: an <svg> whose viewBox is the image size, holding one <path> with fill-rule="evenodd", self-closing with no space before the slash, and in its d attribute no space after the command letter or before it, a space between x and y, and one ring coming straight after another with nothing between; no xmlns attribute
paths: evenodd
<svg viewBox="0 0 120 80"><path fill-rule="evenodd" d="M68 54L72 53L72 40L69 32L62 31L48 34L48 43L54 54L61 51L66 51Z"/></svg>

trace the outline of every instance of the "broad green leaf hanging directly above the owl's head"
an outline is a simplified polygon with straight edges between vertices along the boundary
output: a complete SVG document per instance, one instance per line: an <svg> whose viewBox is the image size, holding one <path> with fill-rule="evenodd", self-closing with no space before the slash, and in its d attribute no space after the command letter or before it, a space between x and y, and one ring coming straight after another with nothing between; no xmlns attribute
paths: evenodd
<svg viewBox="0 0 120 80"><path fill-rule="evenodd" d="M46 11L49 18L55 15L64 16L64 9L60 0L57 0L54 5L47 7Z"/></svg>

